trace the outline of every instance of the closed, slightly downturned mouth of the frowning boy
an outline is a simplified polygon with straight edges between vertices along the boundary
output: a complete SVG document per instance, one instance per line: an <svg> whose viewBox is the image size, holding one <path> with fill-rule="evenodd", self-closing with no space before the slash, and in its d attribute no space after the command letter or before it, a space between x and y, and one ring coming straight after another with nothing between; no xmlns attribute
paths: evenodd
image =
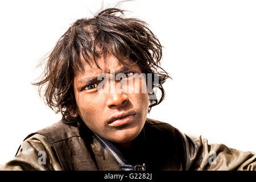
<svg viewBox="0 0 256 182"><path fill-rule="evenodd" d="M129 112L129 113L117 113L112 115L112 117L109 119L109 122L107 123L108 126L111 127L117 127L117 126L122 126L125 125L135 117L137 113L135 112Z"/></svg>

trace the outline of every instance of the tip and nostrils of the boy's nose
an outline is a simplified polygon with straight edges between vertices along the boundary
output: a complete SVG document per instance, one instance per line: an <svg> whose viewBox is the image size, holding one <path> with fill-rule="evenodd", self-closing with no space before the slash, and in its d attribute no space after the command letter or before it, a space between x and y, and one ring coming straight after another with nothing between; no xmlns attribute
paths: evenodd
<svg viewBox="0 0 256 182"><path fill-rule="evenodd" d="M120 92L121 91L121 92ZM122 107L128 101L128 96L123 93L122 90L114 90L112 93L108 93L107 105L109 108Z"/></svg>

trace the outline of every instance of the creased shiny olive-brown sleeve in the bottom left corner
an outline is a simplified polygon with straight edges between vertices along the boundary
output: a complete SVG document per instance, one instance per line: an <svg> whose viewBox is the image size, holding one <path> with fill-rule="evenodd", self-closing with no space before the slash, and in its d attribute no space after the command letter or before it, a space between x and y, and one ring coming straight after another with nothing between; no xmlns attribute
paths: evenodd
<svg viewBox="0 0 256 182"><path fill-rule="evenodd" d="M40 134L27 138L19 146L15 157L0 166L1 171L62 171L51 142Z"/></svg>

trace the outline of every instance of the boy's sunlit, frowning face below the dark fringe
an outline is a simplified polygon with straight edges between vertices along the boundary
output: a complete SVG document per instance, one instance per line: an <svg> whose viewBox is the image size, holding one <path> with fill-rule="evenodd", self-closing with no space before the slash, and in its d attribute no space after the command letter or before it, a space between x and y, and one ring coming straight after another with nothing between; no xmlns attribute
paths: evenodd
<svg viewBox="0 0 256 182"><path fill-rule="evenodd" d="M101 69L82 62L84 72L77 71L73 80L76 114L101 137L117 143L132 141L141 132L148 111L146 80L135 78L141 69L132 61L121 64L112 55L98 59ZM120 81L115 77L118 73L126 77ZM104 81L99 79L102 75Z"/></svg>

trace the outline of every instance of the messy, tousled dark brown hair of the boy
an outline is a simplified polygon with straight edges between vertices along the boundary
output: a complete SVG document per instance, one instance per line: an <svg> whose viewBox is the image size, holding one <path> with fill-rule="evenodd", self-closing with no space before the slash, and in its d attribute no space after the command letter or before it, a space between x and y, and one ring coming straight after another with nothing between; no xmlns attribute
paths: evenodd
<svg viewBox="0 0 256 182"><path fill-rule="evenodd" d="M88 64L94 62L98 67L97 59L110 54L123 64L125 60L134 61L146 75L158 74L158 85L152 79L152 86L157 86L162 96L159 100L150 100L148 112L163 101L162 84L170 76L160 67L162 46L159 40L147 23L125 18L124 11L116 8L102 10L93 18L76 20L48 56L43 77L33 84L39 86L39 94L43 94L46 104L56 113L61 112L65 122L75 122L77 118L71 116L77 111L73 78L77 70L83 71L80 55Z"/></svg>

